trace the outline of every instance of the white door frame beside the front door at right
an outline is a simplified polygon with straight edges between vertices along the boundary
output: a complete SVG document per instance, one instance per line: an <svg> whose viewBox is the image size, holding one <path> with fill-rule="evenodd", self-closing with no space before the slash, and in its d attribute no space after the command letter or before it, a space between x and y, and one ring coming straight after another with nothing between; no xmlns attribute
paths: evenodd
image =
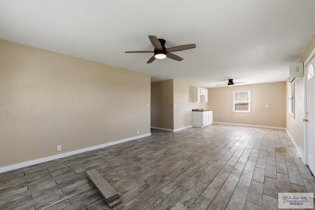
<svg viewBox="0 0 315 210"><path fill-rule="evenodd" d="M305 60L303 66L304 66L304 119L308 118L308 115L306 112L308 111L307 103L308 103L308 94L307 94L307 75L308 75L308 69L306 69L306 66L311 62L311 60L315 57L315 48L313 49L312 53L307 57ZM308 123L304 122L304 164L309 164L309 144L308 144Z"/></svg>

